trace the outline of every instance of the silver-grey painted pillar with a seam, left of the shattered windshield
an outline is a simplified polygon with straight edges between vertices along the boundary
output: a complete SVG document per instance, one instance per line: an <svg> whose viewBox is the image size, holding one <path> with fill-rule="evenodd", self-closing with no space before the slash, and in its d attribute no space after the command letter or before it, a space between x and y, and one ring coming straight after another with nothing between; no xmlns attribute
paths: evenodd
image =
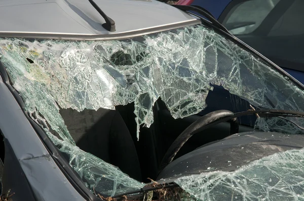
<svg viewBox="0 0 304 201"><path fill-rule="evenodd" d="M85 200L67 181L0 76L0 128L39 200Z"/></svg>

